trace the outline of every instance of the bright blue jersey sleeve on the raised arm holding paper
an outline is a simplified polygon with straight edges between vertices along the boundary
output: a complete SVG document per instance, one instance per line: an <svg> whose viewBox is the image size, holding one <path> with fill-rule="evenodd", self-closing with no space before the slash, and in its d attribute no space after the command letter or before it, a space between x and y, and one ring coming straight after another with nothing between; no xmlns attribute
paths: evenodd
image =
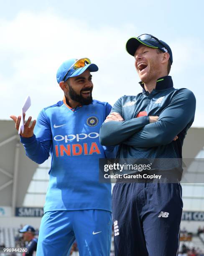
<svg viewBox="0 0 204 256"><path fill-rule="evenodd" d="M20 142L26 150L26 155L38 164L42 164L49 157L52 143L51 127L46 118L45 110L38 115L34 135L31 138L20 136Z"/></svg>

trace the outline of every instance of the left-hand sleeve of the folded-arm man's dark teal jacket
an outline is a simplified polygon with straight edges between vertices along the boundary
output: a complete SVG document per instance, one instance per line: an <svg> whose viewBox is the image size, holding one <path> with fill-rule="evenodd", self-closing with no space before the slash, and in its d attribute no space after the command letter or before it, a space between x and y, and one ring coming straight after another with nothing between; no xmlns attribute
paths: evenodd
<svg viewBox="0 0 204 256"><path fill-rule="evenodd" d="M122 116L121 98L115 102L111 112L117 112ZM99 133L100 143L105 146L118 145L148 123L148 116L141 116L126 121L109 121L103 123Z"/></svg>

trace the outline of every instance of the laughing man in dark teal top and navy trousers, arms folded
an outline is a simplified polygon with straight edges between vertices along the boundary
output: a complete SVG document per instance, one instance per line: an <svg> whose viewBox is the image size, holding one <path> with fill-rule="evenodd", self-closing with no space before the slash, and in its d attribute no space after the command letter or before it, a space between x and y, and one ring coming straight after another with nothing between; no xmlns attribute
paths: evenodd
<svg viewBox="0 0 204 256"><path fill-rule="evenodd" d="M100 142L119 144L117 158L172 159L161 161L157 171L177 182L117 180L112 195L115 256L176 256L183 202L182 167L174 163L182 158L196 100L190 90L173 87L168 44L143 34L130 38L126 50L135 58L143 92L117 100L101 127Z"/></svg>

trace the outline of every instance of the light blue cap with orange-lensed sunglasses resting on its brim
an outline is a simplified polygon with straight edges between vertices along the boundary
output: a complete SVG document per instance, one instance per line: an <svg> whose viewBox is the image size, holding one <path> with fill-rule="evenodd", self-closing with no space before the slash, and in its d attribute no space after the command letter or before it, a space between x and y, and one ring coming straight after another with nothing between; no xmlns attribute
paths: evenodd
<svg viewBox="0 0 204 256"><path fill-rule="evenodd" d="M69 59L64 61L57 70L57 82L66 81L69 77L76 77L82 74L85 70L89 69L90 72L98 71L96 64L91 63L90 59Z"/></svg>

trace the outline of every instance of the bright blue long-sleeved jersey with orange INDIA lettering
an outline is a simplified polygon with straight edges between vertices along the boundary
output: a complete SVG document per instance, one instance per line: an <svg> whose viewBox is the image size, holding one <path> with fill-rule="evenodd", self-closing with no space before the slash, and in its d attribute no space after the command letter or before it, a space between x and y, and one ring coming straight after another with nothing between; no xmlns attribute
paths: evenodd
<svg viewBox="0 0 204 256"><path fill-rule="evenodd" d="M44 108L34 135L20 140L38 164L51 155L44 212L100 209L111 211L111 184L99 182L99 158L113 158L114 147L99 143L99 129L111 106L93 100L70 108L66 100Z"/></svg>

